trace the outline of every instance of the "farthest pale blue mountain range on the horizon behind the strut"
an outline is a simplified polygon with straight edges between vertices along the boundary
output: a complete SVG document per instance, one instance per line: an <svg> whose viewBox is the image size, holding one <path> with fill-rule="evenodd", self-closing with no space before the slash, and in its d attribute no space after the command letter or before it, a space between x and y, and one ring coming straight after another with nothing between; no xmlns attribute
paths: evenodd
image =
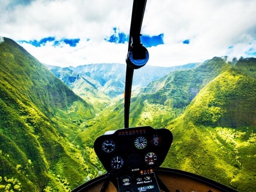
<svg viewBox="0 0 256 192"><path fill-rule="evenodd" d="M146 65L142 69L134 71L133 90L147 86L151 81L155 81L174 70L196 68L198 65L200 65L200 63L174 67ZM91 64L77 66L76 68L70 66L69 68L77 73L84 74L93 80L98 81L102 86L102 91L112 98L119 94L123 94L123 90L125 90L126 65Z"/></svg>

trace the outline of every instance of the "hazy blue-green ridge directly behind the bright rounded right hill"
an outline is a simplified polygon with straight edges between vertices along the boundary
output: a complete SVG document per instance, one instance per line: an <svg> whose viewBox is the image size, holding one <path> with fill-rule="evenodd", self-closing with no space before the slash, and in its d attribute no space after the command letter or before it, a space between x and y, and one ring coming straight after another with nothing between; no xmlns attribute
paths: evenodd
<svg viewBox="0 0 256 192"><path fill-rule="evenodd" d="M203 62L196 69L176 71L148 85L143 93L149 101L173 108L184 108L196 97L197 93L213 78L230 68L220 57Z"/></svg>

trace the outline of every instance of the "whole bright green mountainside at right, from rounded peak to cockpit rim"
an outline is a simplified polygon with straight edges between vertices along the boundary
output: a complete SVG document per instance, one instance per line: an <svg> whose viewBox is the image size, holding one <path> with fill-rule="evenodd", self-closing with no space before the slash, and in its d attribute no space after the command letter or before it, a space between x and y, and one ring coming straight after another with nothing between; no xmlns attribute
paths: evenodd
<svg viewBox="0 0 256 192"><path fill-rule="evenodd" d="M254 60L255 61L255 60ZM256 80L230 68L210 81L169 126L164 166L255 191Z"/></svg>

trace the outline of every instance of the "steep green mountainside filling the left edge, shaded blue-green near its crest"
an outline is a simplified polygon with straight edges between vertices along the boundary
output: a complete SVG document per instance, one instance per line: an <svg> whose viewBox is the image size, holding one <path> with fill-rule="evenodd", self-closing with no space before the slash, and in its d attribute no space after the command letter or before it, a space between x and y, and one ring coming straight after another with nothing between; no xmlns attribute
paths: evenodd
<svg viewBox="0 0 256 192"><path fill-rule="evenodd" d="M97 176L72 140L94 108L13 40L0 44L0 191L64 191Z"/></svg>

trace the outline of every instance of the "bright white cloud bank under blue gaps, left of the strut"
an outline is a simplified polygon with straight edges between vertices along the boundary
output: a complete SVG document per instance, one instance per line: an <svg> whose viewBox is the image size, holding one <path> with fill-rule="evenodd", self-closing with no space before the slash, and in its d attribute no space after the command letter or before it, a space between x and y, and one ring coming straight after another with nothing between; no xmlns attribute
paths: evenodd
<svg viewBox="0 0 256 192"><path fill-rule="evenodd" d="M78 66L97 63L125 63L127 44L114 44L106 41L97 42L93 40L80 40L76 47L61 43L54 47L54 42L47 42L44 46L34 47L31 44L21 45L31 55L44 64L57 66Z"/></svg>

